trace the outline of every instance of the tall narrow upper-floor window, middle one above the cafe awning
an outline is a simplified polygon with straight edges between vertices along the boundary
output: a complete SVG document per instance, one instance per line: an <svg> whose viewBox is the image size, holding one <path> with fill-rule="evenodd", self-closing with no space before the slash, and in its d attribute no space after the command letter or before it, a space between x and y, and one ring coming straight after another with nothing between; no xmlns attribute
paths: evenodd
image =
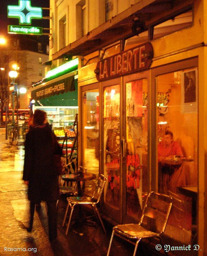
<svg viewBox="0 0 207 256"><path fill-rule="evenodd" d="M81 0L76 5L76 39L87 34L86 31L86 1Z"/></svg>

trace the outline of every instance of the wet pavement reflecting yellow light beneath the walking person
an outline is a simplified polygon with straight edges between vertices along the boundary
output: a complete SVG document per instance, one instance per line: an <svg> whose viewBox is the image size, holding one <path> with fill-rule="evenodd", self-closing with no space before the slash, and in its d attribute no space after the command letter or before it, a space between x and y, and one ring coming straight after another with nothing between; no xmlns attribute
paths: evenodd
<svg viewBox="0 0 207 256"><path fill-rule="evenodd" d="M22 144L22 143L20 143ZM47 209L44 202L35 211L31 233L29 224L29 201L27 187L22 181L24 146L12 146L5 140L5 128L0 128L0 256L1 255L57 255L57 256L106 256L112 225L104 218L107 233L101 225L72 225L65 235L62 221L66 208L66 197L60 197L58 206L58 240L48 239ZM75 215L75 213L74 213ZM111 256L133 255L134 246L114 238ZM140 243L137 255L162 255L154 244ZM169 254L172 255L172 254Z"/></svg>

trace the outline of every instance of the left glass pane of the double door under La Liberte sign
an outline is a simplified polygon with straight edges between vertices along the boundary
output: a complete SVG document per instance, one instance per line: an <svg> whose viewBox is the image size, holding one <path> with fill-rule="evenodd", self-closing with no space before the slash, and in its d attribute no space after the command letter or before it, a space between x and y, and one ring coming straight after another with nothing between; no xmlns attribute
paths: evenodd
<svg viewBox="0 0 207 256"><path fill-rule="evenodd" d="M113 81L115 82L115 81ZM121 222L120 83L103 87L103 170L107 177L103 211ZM104 84L104 83L103 83Z"/></svg>

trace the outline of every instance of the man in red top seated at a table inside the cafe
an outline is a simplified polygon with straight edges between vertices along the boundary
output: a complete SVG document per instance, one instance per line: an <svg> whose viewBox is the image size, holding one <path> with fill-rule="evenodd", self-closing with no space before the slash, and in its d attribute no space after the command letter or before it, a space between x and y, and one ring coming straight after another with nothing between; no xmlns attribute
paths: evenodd
<svg viewBox="0 0 207 256"><path fill-rule="evenodd" d="M169 130L166 130L164 135L164 140L158 144L158 161L161 162L162 160L171 158L175 155L183 157L181 146L179 145L178 142L173 140L173 133ZM161 189L163 190L160 192L164 192L164 193L167 192L168 181L170 179L170 176L175 171L175 168L177 168L177 166L173 166L173 165L166 166L166 165L161 165L159 163L159 169L161 169L161 174L163 179L163 181L160 182L159 184L160 188L162 187Z"/></svg>

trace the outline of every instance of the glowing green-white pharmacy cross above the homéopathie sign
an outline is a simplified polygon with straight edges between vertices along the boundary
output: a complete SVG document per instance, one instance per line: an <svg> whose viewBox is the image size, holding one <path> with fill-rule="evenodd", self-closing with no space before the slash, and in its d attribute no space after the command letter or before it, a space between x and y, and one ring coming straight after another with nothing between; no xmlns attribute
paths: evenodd
<svg viewBox="0 0 207 256"><path fill-rule="evenodd" d="M19 5L7 6L7 17L19 19L19 24L31 24L31 19L42 19L42 8L31 7L30 0L19 0Z"/></svg>

